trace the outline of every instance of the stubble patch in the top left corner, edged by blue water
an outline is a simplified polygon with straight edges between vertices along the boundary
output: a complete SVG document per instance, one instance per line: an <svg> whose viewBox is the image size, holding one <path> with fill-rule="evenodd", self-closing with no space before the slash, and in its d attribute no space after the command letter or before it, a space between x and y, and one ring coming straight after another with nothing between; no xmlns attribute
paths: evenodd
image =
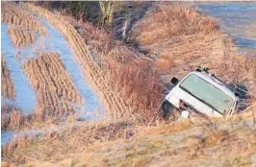
<svg viewBox="0 0 256 167"><path fill-rule="evenodd" d="M46 36L46 28L30 12L14 4L1 4L1 21L8 24L9 35L16 47L25 47L36 41L37 33Z"/></svg>

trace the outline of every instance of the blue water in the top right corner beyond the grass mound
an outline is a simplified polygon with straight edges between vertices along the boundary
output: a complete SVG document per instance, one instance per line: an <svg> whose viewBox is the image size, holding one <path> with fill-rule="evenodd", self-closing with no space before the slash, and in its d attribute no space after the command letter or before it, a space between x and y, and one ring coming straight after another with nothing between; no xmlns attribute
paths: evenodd
<svg viewBox="0 0 256 167"><path fill-rule="evenodd" d="M220 28L235 38L236 45L242 48L240 51L245 52L245 54L250 52L256 58L255 4L228 3L197 6L201 11L218 18Z"/></svg>

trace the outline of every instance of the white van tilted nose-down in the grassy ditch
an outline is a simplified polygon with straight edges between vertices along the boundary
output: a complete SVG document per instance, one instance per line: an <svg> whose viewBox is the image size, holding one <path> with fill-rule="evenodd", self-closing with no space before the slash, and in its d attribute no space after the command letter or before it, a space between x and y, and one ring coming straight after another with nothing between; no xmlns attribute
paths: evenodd
<svg viewBox="0 0 256 167"><path fill-rule="evenodd" d="M234 113L239 98L226 84L206 71L193 71L166 95L160 114L168 118L174 111L196 112L205 116L224 116ZM189 115L188 115L189 116Z"/></svg>

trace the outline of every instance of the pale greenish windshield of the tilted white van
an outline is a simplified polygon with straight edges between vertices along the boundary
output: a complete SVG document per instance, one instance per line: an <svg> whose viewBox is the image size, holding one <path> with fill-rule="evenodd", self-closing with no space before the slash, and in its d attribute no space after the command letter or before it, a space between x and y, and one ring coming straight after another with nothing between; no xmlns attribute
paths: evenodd
<svg viewBox="0 0 256 167"><path fill-rule="evenodd" d="M221 114L229 111L233 104L233 99L229 95L194 74L185 79L180 87Z"/></svg>

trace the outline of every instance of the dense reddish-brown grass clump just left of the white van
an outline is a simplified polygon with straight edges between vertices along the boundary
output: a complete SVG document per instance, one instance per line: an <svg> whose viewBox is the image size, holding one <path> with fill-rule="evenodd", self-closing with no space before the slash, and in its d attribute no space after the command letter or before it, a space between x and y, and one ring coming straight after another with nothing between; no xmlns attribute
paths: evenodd
<svg viewBox="0 0 256 167"><path fill-rule="evenodd" d="M121 97L128 106L134 112L152 116L161 104L163 90L158 78L160 74L154 68L154 63L138 58L125 63L111 61L108 70L113 90L121 92Z"/></svg>

